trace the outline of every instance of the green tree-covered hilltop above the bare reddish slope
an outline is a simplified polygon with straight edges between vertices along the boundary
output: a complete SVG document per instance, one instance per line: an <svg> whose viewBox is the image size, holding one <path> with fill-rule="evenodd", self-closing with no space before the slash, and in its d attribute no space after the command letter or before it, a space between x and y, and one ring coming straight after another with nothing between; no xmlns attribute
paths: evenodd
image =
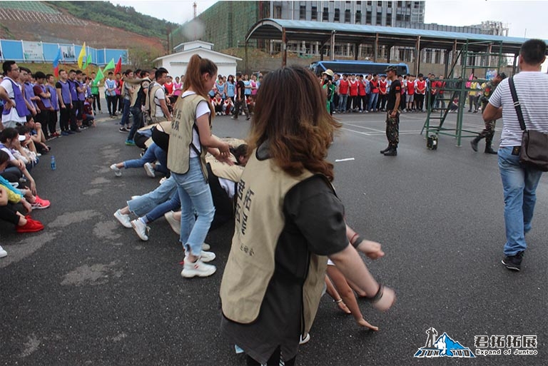
<svg viewBox="0 0 548 366"><path fill-rule="evenodd" d="M80 19L124 29L142 36L166 39L166 30L178 24L143 15L133 6L113 5L108 1L44 1L49 6L65 9Z"/></svg>

